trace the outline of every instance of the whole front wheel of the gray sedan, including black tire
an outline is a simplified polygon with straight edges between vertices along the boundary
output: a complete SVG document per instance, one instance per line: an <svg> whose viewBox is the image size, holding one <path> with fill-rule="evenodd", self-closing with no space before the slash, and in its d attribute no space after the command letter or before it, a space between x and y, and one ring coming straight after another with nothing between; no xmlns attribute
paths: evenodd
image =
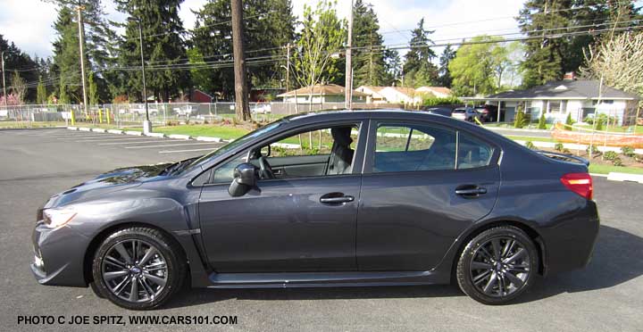
<svg viewBox="0 0 643 332"><path fill-rule="evenodd" d="M186 259L180 246L159 230L123 228L98 247L92 274L96 292L112 303L129 310L150 310L181 288Z"/></svg>

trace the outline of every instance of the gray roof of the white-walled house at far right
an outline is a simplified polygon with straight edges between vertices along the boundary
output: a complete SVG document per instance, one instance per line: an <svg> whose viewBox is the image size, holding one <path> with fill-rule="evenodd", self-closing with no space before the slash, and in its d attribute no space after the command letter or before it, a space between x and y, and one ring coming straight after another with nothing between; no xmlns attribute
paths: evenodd
<svg viewBox="0 0 643 332"><path fill-rule="evenodd" d="M489 95L482 99L597 99L599 88L600 83L597 80L557 80L526 90L505 91L496 95ZM630 94L614 87L603 85L601 90L600 96L602 99L640 99L639 95Z"/></svg>

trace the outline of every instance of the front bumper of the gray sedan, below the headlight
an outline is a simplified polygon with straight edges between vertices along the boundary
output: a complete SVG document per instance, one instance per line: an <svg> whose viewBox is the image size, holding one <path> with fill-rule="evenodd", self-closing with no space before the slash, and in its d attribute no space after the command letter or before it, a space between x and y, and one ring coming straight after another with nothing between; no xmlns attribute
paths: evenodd
<svg viewBox="0 0 643 332"><path fill-rule="evenodd" d="M83 261L89 239L69 226L48 228L38 221L31 235L31 272L42 285L88 286Z"/></svg>

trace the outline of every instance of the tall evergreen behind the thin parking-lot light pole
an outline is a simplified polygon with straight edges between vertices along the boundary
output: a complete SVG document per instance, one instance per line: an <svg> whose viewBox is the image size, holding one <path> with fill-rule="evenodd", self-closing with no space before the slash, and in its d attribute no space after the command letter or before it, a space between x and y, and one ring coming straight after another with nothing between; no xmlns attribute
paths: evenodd
<svg viewBox="0 0 643 332"><path fill-rule="evenodd" d="M143 48L146 68L148 97L167 102L180 92L188 94L189 71L176 68L186 63L186 42L182 38L183 23L179 6L183 0L117 0L118 9L129 17L140 20L143 29ZM140 66L138 21L124 24L125 37L121 43L118 62L121 67L134 69L121 73L127 87L129 100L143 100L143 82ZM134 93L135 95L131 95Z"/></svg>

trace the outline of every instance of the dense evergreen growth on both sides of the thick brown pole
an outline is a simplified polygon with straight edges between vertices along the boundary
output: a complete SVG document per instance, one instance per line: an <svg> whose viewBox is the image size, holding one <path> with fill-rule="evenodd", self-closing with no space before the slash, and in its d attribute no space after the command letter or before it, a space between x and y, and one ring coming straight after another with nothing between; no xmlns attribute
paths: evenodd
<svg viewBox="0 0 643 332"><path fill-rule="evenodd" d="M286 78L280 69L284 62L279 60L286 54L285 46L295 40L296 18L291 1L246 0L243 5L250 86L279 87L280 80ZM211 63L192 71L195 87L221 92L224 98L234 96L234 72L231 64L225 63L232 59L230 15L230 0L210 0L196 12L190 53L191 61Z"/></svg>

